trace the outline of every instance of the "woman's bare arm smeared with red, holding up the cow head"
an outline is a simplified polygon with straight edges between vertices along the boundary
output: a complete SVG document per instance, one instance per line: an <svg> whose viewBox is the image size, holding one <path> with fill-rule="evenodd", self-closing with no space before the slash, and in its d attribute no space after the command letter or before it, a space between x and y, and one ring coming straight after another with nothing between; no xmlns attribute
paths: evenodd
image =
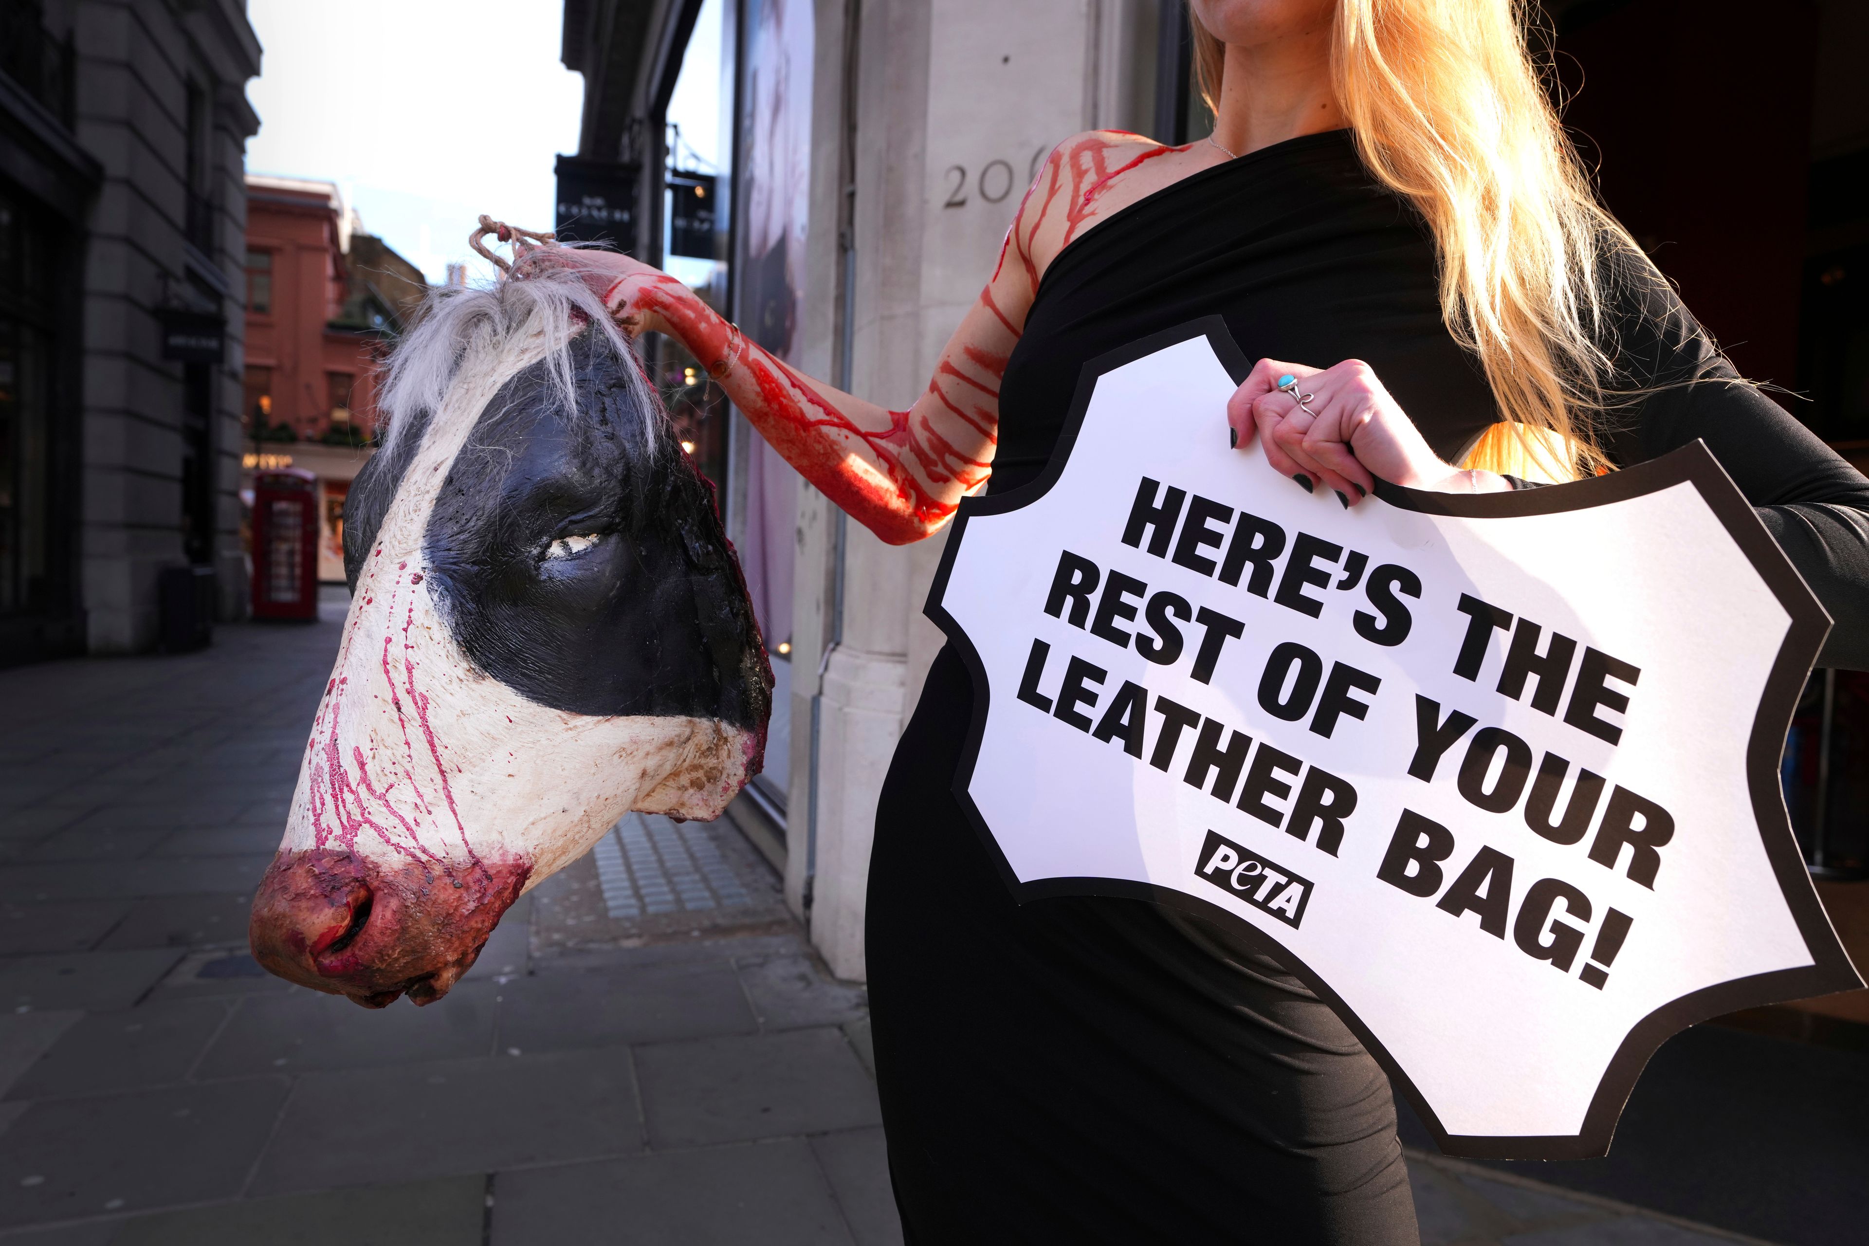
<svg viewBox="0 0 1869 1246"><path fill-rule="evenodd" d="M746 336L678 280L604 250L536 248L520 263L579 271L632 338L665 333L708 370L787 463L892 545L940 531L991 474L1000 377L1024 331L1039 276L1097 215L1151 185L1106 194L1157 153L1134 135L1078 135L1052 151L1020 200L1000 262L948 340L927 390L890 411L804 375ZM1151 170L1153 172L1153 170Z"/></svg>

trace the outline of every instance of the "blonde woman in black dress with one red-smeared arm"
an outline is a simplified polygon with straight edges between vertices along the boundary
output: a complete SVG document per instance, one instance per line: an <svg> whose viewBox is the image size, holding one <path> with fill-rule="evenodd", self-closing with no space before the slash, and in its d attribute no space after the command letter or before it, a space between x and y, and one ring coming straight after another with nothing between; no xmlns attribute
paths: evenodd
<svg viewBox="0 0 1869 1246"><path fill-rule="evenodd" d="M1376 478L1514 488L1452 467L1482 435L1493 465L1518 445L1561 478L1705 437L1835 616L1824 661L1869 663L1869 482L1734 377L1594 204L1516 7L1194 0L1213 138L1062 144L906 411L798 375L654 269L557 256L890 542L1035 478L1086 361L1219 312L1267 355L1228 407L1237 445L1346 506ZM1415 1242L1389 1083L1297 979L1151 904L1011 902L951 794L970 708L944 652L871 865L908 1240Z"/></svg>

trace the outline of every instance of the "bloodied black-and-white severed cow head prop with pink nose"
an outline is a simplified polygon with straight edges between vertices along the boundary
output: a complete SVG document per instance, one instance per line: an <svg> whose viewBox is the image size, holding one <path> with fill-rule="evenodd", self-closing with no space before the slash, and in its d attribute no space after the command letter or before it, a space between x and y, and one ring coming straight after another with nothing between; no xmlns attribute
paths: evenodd
<svg viewBox="0 0 1869 1246"><path fill-rule="evenodd" d="M576 271L439 295L383 407L250 928L267 970L366 1007L441 998L624 813L718 816L772 702L712 486Z"/></svg>

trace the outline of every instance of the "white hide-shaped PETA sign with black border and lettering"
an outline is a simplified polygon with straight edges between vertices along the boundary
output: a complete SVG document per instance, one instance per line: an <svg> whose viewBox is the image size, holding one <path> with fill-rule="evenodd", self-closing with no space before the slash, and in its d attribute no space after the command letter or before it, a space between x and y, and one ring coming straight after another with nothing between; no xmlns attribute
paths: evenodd
<svg viewBox="0 0 1869 1246"><path fill-rule="evenodd" d="M1675 1031L1860 986L1777 775L1828 618L1706 448L1346 510L1228 450L1247 368L1219 318L1105 357L961 506L929 615L1019 899L1247 928L1454 1154L1604 1154Z"/></svg>

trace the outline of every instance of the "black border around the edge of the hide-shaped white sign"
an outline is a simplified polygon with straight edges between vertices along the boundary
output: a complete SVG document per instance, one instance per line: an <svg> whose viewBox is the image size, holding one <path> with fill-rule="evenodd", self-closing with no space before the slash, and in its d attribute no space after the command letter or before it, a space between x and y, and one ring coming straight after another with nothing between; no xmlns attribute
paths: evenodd
<svg viewBox="0 0 1869 1246"><path fill-rule="evenodd" d="M1635 1078L1648 1063L1648 1057L1654 1055L1656 1048L1660 1048L1662 1042L1675 1033L1723 1012L1734 1012L1738 1009L1764 1003L1779 1003L1785 999L1822 996L1863 984L1856 968L1850 964L1848 955L1843 951L1843 945L1837 942L1835 930L1830 927L1830 917L1824 913L1824 908L1817 899L1817 889L1811 885L1811 874L1804 865L1804 856L1798 852L1798 842L1791 831L1791 820L1785 813L1785 798L1779 788L1777 775L1777 764L1785 747L1785 732L1791 727L1791 714L1796 708L1798 695L1804 691L1804 682L1811 673L1817 652L1822 646L1824 637L1830 633L1830 615L1805 587L1804 577L1798 575L1796 568L1792 568L1785 555L1777 549L1772 534L1759 521L1759 516L1753 514L1751 504L1740 493L1738 486L1733 484L1733 478L1725 473L1725 469L1719 467L1719 461L1714 460L1703 441L1693 441L1691 445L1663 454L1658 460L1637 463L1605 476L1542 489L1454 495L1424 493L1391 484L1377 484L1376 488L1376 497L1383 499L1391 506L1400 506L1402 510L1415 510L1430 516L1460 516L1465 519L1499 519L1514 516L1549 516L1564 510L1587 510L1591 506L1604 506L1632 497L1643 497L1647 493L1658 493L1686 482L1699 489L1701 499L1746 553L1746 559L1751 562L1753 570L1759 572L1759 577L1764 579L1764 583L1777 596L1779 605L1783 605L1791 615L1791 628L1785 633L1785 643L1779 646L1777 661L1772 663L1772 674L1766 678L1764 693L1759 699L1759 712L1753 715L1751 740L1746 749L1746 783L1751 790L1753 816L1759 826L1759 837L1764 846L1766 859L1772 863L1779 891L1798 921L1798 932L1804 936L1813 964L1798 970L1755 973L1751 977L1740 977L1716 986L1706 986L1645 1016L1622 1039L1622 1046L1604 1069L1602 1082L1598 1083L1596 1095L1591 1098L1591 1108L1585 1113L1581 1132L1570 1136L1551 1134L1497 1138L1484 1134L1448 1134L1441 1126L1441 1119L1434 1113L1434 1108L1428 1106L1428 1100L1415 1089L1415 1083L1409 1082L1405 1072L1402 1072L1400 1065L1396 1065L1396 1061L1389 1055L1387 1048L1383 1048L1383 1044L1376 1039L1374 1031L1370 1031L1370 1027L1363 1024L1349 1005L1346 1005L1344 999L1331 990L1329 983L1325 983L1323 977L1320 977L1308 964L1299 960L1275 938L1219 904L1211 904L1200 897L1176 891L1172 887L1157 887L1153 884L1121 878L1041 878L1030 884L1020 884L1017 874L1013 874L1011 865L1006 861L1006 854L1000 850L998 841L987 828L987 820L981 816L979 807L974 805L974 798L968 794L968 786L974 779L974 764L979 760L979 743L987 730L991 689L987 686L987 667L981 663L972 641L968 641L966 631L942 607L942 598L948 590L948 575L953 572L953 560L961 551L961 542L966 538L966 525L970 519L976 516L1002 516L1011 510L1030 506L1045 497L1045 493L1049 493L1058 482L1071 458L1071 450L1077 446L1077 435L1084 426L1084 413L1090 409L1090 398L1097 389L1097 379L1105 372L1114 372L1123 364L1131 364L1138 359L1153 355L1155 351L1200 336L1207 338L1213 353L1219 355L1220 364L1232 374L1234 381L1245 381L1247 374L1252 370L1252 361L1247 359L1245 351L1239 349L1239 344L1234 342L1234 336L1228 333L1226 321L1220 316L1204 316L1091 359L1084 364L1082 375L1078 377L1077 396L1071 402L1071 415L1065 418L1063 432L1058 435L1058 448L1052 452L1045 473L1028 486L996 493L992 497L968 497L961 501L959 514L953 519L953 532L948 536L948 547L942 553L940 568L934 573L934 585L929 590L929 602L923 613L948 633L948 641L955 646L974 678L974 721L968 725L966 740L963 743L961 766L953 777L953 794L966 811L974 831L979 835L981 842L985 842L987 856L998 867L1000 878L1020 904L1026 900L1065 895L1153 900L1157 904L1166 904L1170 908L1207 917L1209 921L1222 921L1228 928L1245 932L1248 942L1297 973L1297 977L1318 992L1318 996L1336 1011L1344 1024L1355 1031L1357 1039L1363 1041L1363 1046L1366 1046L1370 1054L1381 1061L1383 1069L1389 1070L1389 1078L1400 1085L1409 1097L1409 1102L1415 1104L1415 1111L1420 1113L1420 1119L1434 1132L1434 1140L1439 1143L1441 1151L1447 1154L1491 1160L1579 1160L1607 1154L1609 1140L1617 1128L1617 1119L1622 1115L1622 1106L1628 1102L1630 1091L1635 1087Z"/></svg>

